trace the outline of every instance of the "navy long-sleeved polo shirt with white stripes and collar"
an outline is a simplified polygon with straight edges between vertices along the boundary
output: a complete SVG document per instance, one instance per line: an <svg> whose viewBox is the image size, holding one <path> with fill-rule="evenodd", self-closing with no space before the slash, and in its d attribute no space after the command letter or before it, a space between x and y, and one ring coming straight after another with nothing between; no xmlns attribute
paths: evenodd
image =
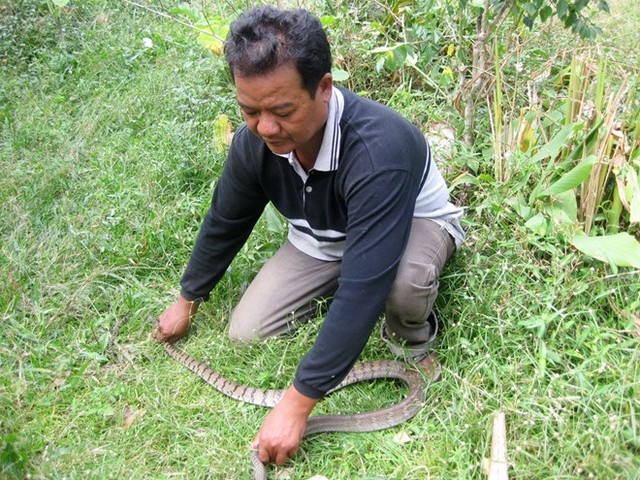
<svg viewBox="0 0 640 480"><path fill-rule="evenodd" d="M293 153L272 153L242 126L234 136L191 259L182 295L206 300L266 206L289 222L301 251L342 261L338 289L294 385L323 396L348 373L384 308L414 216L460 243L462 210L422 133L395 111L334 87L323 143L308 173Z"/></svg>

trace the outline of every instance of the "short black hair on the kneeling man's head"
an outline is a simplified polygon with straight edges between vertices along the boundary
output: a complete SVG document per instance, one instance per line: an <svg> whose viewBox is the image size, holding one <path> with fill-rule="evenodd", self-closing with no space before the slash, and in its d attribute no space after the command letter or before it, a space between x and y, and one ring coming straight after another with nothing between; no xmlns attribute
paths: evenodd
<svg viewBox="0 0 640 480"><path fill-rule="evenodd" d="M302 86L315 97L325 73L331 73L331 48L320 21L306 10L258 7L240 15L224 46L232 77L270 73L291 63Z"/></svg>

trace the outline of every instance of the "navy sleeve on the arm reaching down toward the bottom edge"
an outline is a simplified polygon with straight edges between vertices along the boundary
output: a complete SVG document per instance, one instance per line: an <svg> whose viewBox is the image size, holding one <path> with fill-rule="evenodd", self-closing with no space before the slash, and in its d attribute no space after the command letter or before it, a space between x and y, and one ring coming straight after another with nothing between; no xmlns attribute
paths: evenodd
<svg viewBox="0 0 640 480"><path fill-rule="evenodd" d="M294 379L303 395L320 398L337 386L364 348L395 280L419 183L405 170L387 170L350 189L339 286Z"/></svg>

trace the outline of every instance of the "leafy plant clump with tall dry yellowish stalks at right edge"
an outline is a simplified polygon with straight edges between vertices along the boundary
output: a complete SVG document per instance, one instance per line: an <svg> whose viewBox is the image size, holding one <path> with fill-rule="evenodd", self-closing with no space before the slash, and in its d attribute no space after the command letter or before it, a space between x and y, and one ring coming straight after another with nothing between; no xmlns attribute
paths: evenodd
<svg viewBox="0 0 640 480"><path fill-rule="evenodd" d="M537 235L560 235L613 266L640 268L640 243L628 233L640 225L638 127L630 141L629 126L618 119L629 107L628 79L607 87L604 57L574 57L559 79L568 85L559 109L542 120L531 108L516 121L521 134L508 153L528 165L547 163L528 200L510 204ZM553 136L544 142L548 131Z"/></svg>

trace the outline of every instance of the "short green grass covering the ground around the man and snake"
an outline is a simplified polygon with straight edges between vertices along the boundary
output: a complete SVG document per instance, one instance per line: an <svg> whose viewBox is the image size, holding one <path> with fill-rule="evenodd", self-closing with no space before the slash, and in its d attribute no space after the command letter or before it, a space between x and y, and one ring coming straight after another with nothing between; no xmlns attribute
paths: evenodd
<svg viewBox="0 0 640 480"><path fill-rule="evenodd" d="M251 478L247 445L264 411L217 394L148 338L177 293L224 162L213 122L238 120L220 60L183 27L123 3L74 6L62 38L41 2L7 5L0 477ZM404 108L406 94L396 98ZM424 108L407 103L408 115L447 116L450 106L418 99ZM460 151L451 178L470 160ZM512 478L637 477L640 275L533 238L503 202L527 188L526 173L468 194L469 240L438 301L444 376L423 411L388 431L309 438L278 478L484 478L498 410ZM282 238L260 224L182 343L265 388L288 385L318 322L241 349L226 320ZM389 353L374 335L363 356ZM353 387L318 412L400 394L384 382ZM397 442L399 432L411 441Z"/></svg>

